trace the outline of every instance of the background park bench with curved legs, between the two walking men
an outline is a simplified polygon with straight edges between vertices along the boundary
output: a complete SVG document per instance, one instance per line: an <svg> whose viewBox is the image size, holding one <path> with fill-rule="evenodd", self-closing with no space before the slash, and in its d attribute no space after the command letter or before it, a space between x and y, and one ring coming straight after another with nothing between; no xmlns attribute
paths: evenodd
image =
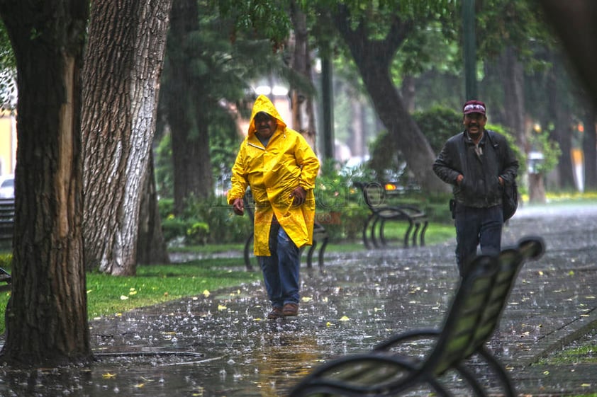
<svg viewBox="0 0 597 397"><path fill-rule="evenodd" d="M371 211L362 230L363 244L367 249L387 246L384 229L388 221L408 224L403 236L404 248L411 244L413 247L425 246L425 231L429 224L427 215L414 205L393 205L390 199L397 191L386 189L386 185L395 187L395 184L355 182L354 185L362 192L363 200Z"/></svg>

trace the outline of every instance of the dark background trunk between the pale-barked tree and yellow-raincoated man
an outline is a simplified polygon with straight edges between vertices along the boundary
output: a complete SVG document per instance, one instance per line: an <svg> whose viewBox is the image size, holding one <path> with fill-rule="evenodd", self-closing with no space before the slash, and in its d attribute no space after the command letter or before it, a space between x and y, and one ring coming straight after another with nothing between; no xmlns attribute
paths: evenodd
<svg viewBox="0 0 597 397"><path fill-rule="evenodd" d="M170 25L165 65L169 90L162 98L172 132L174 212L181 214L189 197L207 198L213 192L208 125L201 105L205 98L191 65L197 49L189 43L191 33L199 30L197 2L174 1Z"/></svg>

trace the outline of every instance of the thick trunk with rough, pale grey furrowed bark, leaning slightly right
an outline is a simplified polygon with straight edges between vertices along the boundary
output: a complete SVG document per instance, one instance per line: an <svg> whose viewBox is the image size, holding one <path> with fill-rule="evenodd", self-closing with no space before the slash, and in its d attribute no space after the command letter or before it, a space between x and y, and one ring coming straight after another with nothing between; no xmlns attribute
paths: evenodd
<svg viewBox="0 0 597 397"><path fill-rule="evenodd" d="M135 274L170 2L103 0L91 8L84 68L85 263L111 275Z"/></svg>

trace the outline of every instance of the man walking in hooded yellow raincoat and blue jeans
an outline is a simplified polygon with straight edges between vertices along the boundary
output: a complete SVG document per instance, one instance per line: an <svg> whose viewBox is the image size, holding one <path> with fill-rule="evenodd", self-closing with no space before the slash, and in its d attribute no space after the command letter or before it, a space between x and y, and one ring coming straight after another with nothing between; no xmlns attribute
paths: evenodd
<svg viewBox="0 0 597 397"><path fill-rule="evenodd" d="M266 96L259 96L232 168L228 204L235 214L244 214L242 197L250 186L255 200L253 251L272 302L268 318L299 311L299 249L313 243L318 171L311 146L286 127Z"/></svg>

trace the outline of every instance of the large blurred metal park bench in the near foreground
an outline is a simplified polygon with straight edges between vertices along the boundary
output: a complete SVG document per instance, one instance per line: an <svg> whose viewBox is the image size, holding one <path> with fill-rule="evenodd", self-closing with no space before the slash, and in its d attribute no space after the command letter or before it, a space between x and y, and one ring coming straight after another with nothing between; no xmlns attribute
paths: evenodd
<svg viewBox="0 0 597 397"><path fill-rule="evenodd" d="M544 249L541 238L529 237L499 255L475 258L442 328L398 333L371 352L333 359L306 376L290 396L397 396L423 386L439 396L451 396L447 383L454 377L446 376L448 372L464 380L457 381L459 388L468 385L474 395L488 396L489 388L481 385L474 371L484 363L493 374L488 379L503 389L502 395L515 397L510 376L486 343L498 328L520 267L525 260L540 258ZM423 354L421 340L432 341Z"/></svg>

